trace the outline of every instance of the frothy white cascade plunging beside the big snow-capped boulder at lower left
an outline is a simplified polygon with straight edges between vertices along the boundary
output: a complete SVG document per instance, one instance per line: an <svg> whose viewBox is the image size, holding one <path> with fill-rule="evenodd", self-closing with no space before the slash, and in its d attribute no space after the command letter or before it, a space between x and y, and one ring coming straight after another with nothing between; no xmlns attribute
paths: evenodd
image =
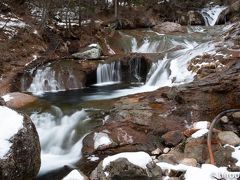
<svg viewBox="0 0 240 180"><path fill-rule="evenodd" d="M58 107L52 113L33 113L31 119L36 125L41 143L41 168L39 174L77 162L81 158L82 137L74 141L76 126L88 119L87 113L77 111L63 116Z"/></svg>

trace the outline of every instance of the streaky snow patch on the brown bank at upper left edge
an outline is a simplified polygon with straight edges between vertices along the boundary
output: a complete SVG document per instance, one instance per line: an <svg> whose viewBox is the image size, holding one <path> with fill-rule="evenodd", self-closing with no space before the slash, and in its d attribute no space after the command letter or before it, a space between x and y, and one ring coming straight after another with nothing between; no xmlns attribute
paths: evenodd
<svg viewBox="0 0 240 180"><path fill-rule="evenodd" d="M24 28L26 23L14 14L0 15L0 29L11 39L18 33L18 29Z"/></svg>

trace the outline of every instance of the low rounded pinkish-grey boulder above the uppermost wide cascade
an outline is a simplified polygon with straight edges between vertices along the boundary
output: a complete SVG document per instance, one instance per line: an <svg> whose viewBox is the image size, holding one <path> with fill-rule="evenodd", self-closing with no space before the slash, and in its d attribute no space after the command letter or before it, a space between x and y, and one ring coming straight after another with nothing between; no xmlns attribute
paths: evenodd
<svg viewBox="0 0 240 180"><path fill-rule="evenodd" d="M153 30L161 34L185 32L184 28L180 24L173 23L173 22L164 22L164 23L158 24L153 27Z"/></svg>

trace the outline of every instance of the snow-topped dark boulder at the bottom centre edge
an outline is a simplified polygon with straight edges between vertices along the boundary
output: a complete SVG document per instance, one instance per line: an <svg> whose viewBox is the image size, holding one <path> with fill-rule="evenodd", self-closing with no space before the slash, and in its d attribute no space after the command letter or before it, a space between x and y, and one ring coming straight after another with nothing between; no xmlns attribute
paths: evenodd
<svg viewBox="0 0 240 180"><path fill-rule="evenodd" d="M161 177L161 169L145 152L125 152L106 157L92 172L92 179Z"/></svg>

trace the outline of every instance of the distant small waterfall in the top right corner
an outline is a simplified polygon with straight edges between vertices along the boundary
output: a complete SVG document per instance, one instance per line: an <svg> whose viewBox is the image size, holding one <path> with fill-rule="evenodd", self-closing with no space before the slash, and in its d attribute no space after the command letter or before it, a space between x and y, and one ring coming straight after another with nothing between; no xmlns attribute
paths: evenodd
<svg viewBox="0 0 240 180"><path fill-rule="evenodd" d="M214 26L219 20L220 14L226 9L225 6L211 6L203 8L200 13L202 14L206 26Z"/></svg>

